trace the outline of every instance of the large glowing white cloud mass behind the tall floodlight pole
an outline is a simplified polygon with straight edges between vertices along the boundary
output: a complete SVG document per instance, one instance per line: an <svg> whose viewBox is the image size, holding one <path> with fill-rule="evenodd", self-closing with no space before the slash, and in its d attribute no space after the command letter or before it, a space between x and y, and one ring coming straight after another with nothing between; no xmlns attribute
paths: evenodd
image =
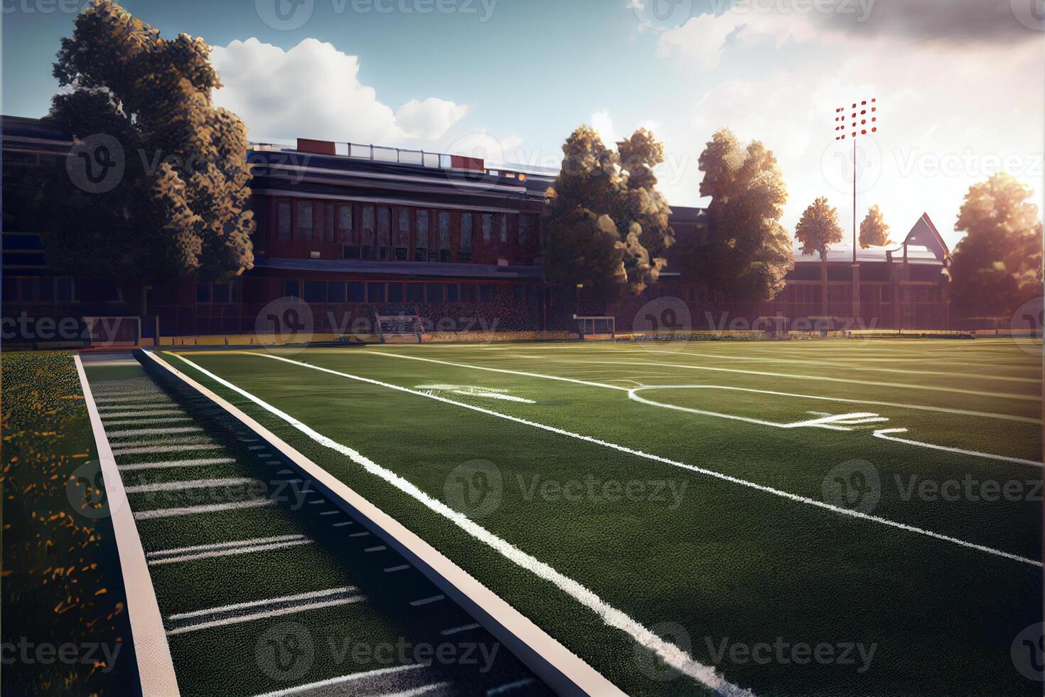
<svg viewBox="0 0 1045 697"><path fill-rule="evenodd" d="M896 238L928 212L953 245L965 193L994 171L1009 171L1041 200L1045 89L1028 77L1041 74L1040 41L920 41L911 27L889 30L888 15L878 18L885 26L866 31L794 14L751 19L693 18L659 38L658 54L692 75L679 93L696 95L688 118L661 116L657 132L669 158L661 186L672 203L706 203L699 201L697 158L727 126L775 153L790 192L786 226L793 230L805 207L828 195L847 230L852 163L833 152L834 108L869 97L878 98L880 129L866 141L874 162L860 182L858 219L879 204ZM720 67L697 70L711 66Z"/></svg>

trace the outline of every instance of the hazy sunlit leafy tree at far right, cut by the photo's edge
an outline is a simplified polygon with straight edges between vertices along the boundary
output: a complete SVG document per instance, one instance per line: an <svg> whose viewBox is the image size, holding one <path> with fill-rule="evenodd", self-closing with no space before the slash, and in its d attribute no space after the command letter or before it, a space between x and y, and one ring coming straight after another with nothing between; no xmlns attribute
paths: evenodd
<svg viewBox="0 0 1045 697"><path fill-rule="evenodd" d="M974 184L954 229L955 310L967 317L1009 315L1042 295L1042 223L1031 191L1004 172Z"/></svg>

